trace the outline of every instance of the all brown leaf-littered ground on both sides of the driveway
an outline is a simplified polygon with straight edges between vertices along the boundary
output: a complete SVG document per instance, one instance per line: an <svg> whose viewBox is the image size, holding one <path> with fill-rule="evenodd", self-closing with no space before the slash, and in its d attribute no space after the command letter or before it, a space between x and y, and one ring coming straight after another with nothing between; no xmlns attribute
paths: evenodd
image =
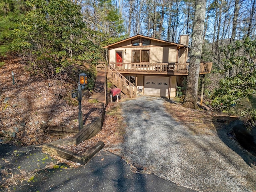
<svg viewBox="0 0 256 192"><path fill-rule="evenodd" d="M2 59L6 64L0 67L0 138L2 141L10 141L16 145L36 145L50 143L58 140L58 136L47 134L40 128L40 124L70 127L78 127L77 100L71 98L71 90L74 85L65 83L61 86L62 97L56 98L56 82L52 79L43 79L40 76L30 76L26 65L19 58ZM14 72L14 85L12 82ZM50 86L49 86L50 84ZM127 96L122 95L122 100ZM121 100L121 102L122 102ZM192 110L184 108L179 102L167 102L166 110L176 121L188 126L194 134L212 134L216 129L226 124L217 122L216 118L226 119L226 114L212 112L210 110ZM82 99L82 113L85 124L91 123L96 117L102 115L102 104L90 102L90 99ZM102 141L105 147L115 153L120 142L124 142L125 124L119 103L109 103L102 130L93 138L85 140L78 145L60 146L77 154L83 154L98 141ZM15 134L14 134L15 133ZM72 135L70 135L72 136ZM68 137L68 136L66 136ZM68 164L70 168L80 166L77 163L54 156L60 163ZM54 168L54 164L47 168ZM8 170L1 170L2 175L11 174ZM6 186L15 185L18 180L29 180L36 172L21 172L6 179Z"/></svg>

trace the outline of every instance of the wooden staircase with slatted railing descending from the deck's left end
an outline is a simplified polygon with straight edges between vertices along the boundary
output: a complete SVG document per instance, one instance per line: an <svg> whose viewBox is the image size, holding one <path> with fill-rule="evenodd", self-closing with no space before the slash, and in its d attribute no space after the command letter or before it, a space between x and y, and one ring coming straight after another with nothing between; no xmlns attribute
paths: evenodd
<svg viewBox="0 0 256 192"><path fill-rule="evenodd" d="M124 94L130 98L136 97L136 86L122 76L122 74L120 74L117 70L106 66L106 75L107 79L114 83L116 87L120 88Z"/></svg>

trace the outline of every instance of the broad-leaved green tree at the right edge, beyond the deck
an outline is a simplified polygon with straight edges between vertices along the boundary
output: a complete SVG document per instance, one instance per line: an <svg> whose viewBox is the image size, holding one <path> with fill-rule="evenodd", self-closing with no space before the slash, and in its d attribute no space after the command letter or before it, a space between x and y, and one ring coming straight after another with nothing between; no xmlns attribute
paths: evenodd
<svg viewBox="0 0 256 192"><path fill-rule="evenodd" d="M223 78L212 91L212 106L230 112L242 98L256 94L256 40L237 40L222 51L230 57L222 61L224 68L219 73ZM235 69L233 75L225 76L231 68ZM246 109L240 115L250 117L256 125L256 109Z"/></svg>

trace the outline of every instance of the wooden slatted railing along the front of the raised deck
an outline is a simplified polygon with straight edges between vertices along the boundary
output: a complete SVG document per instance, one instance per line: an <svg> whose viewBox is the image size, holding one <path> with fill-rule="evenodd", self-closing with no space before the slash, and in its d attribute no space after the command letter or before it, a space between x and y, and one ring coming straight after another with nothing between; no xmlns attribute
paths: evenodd
<svg viewBox="0 0 256 192"><path fill-rule="evenodd" d="M188 74L189 63L110 63L110 67L122 72L153 72ZM212 62L200 63L200 73L210 73Z"/></svg>

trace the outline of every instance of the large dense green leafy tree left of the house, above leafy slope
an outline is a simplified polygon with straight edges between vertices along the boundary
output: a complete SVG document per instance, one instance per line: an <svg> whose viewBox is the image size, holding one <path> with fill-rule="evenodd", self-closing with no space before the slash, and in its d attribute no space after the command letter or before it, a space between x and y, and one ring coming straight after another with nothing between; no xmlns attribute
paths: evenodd
<svg viewBox="0 0 256 192"><path fill-rule="evenodd" d="M98 60L98 47L90 41L80 6L70 0L30 0L26 4L33 10L15 30L13 48L28 56L38 72L60 73L72 59L90 63Z"/></svg>

